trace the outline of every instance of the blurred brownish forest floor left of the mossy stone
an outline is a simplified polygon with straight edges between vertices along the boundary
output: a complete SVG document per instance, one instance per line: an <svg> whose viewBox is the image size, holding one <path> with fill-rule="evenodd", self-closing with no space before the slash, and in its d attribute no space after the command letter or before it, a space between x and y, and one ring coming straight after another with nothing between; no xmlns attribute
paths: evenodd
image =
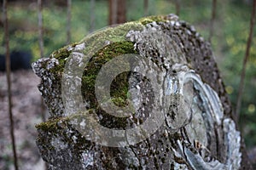
<svg viewBox="0 0 256 170"><path fill-rule="evenodd" d="M35 125L42 122L40 79L32 71L15 71L11 74L15 143L21 170L44 169L36 145ZM9 105L6 74L0 72L0 169L14 169L9 130Z"/></svg>

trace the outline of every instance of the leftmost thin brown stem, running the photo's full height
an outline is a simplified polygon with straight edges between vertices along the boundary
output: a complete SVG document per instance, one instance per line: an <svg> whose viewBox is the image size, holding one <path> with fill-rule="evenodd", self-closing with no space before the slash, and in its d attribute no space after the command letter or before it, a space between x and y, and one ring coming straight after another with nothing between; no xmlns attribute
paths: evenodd
<svg viewBox="0 0 256 170"><path fill-rule="evenodd" d="M11 76L10 76L10 56L9 56L9 28L8 28L8 16L7 16L7 0L3 0L3 20L4 20L4 37L5 37L5 68L6 68L6 77L8 83L8 103L9 103L9 122L10 122L10 134L12 139L13 154L15 161L15 170L18 170L18 159L16 154L15 146L15 126L14 118L12 112L12 94L11 94Z"/></svg>

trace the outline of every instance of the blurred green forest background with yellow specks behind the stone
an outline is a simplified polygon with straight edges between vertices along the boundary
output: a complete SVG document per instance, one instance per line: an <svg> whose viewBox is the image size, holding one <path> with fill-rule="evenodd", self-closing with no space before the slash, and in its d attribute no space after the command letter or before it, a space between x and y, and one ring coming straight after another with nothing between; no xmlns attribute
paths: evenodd
<svg viewBox="0 0 256 170"><path fill-rule="evenodd" d="M117 2L119 1L123 0ZM101 29L110 23L108 0L73 0L70 13L70 39L68 39L67 2L66 0L42 1L44 57L48 57L49 54L63 47L67 42L78 42L91 31ZM212 37L212 51L223 77L226 92L230 95L231 103L235 108L242 60L249 35L253 0L216 1L216 16L213 22L212 36L210 35L212 0L148 0L146 5L143 0L125 2L124 20L126 21L138 20L145 15L178 13L180 20L185 20L195 26L196 31L200 32L206 40ZM8 17L10 51L27 51L32 54L33 61L39 59L37 0L9 1ZM0 54L4 54L3 17L1 17L0 26ZM254 27L239 120L241 133L245 137L248 150L252 150L256 146L255 33L256 28ZM0 82L1 85L3 83L1 78Z"/></svg>

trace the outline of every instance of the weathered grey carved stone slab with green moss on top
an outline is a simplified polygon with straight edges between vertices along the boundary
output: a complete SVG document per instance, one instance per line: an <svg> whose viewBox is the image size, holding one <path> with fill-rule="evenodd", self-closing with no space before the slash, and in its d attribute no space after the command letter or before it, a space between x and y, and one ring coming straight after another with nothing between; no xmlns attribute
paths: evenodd
<svg viewBox="0 0 256 170"><path fill-rule="evenodd" d="M240 169L210 44L176 15L108 27L32 64L49 169Z"/></svg>

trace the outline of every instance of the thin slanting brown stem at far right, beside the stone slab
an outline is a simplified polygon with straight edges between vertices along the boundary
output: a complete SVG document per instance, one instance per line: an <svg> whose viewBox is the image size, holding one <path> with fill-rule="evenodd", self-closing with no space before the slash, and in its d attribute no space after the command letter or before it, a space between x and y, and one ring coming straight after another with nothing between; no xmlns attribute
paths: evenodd
<svg viewBox="0 0 256 170"><path fill-rule="evenodd" d="M246 75L247 60L250 54L250 48L253 41L253 26L255 22L255 10L256 10L256 0L253 0L253 11L252 11L251 21L250 21L250 32L249 32L249 37L247 39L247 48L246 48L246 53L243 59L243 64L241 69L241 81L239 84L239 92L238 92L237 101L236 101L236 121L237 122L239 121L239 113L241 110L241 97L242 97L242 91L244 88L244 79Z"/></svg>

